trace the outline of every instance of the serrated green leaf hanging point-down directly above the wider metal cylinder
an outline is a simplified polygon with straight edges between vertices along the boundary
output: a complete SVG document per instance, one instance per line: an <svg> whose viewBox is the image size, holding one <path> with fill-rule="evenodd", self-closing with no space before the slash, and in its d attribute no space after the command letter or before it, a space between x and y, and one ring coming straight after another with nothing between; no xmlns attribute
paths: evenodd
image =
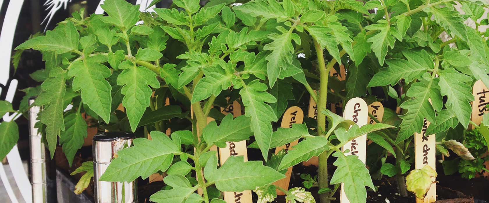
<svg viewBox="0 0 489 203"><path fill-rule="evenodd" d="M159 81L153 71L145 67L133 66L119 74L117 85L123 86L121 89L121 93L124 94L122 105L126 108L131 129L135 131L144 111L150 106L153 94L150 86L159 88Z"/></svg>

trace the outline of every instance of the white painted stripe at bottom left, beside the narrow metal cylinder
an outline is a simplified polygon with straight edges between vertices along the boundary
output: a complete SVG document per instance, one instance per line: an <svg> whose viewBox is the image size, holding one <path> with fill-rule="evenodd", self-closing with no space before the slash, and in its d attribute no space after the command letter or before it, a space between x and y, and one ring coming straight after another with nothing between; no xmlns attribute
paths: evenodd
<svg viewBox="0 0 489 203"><path fill-rule="evenodd" d="M10 166L14 175L15 183L17 183L21 191L22 198L24 198L25 203L32 203L32 185L27 177L27 173L25 173L17 145L14 145L14 148L8 152L7 160L8 166Z"/></svg>

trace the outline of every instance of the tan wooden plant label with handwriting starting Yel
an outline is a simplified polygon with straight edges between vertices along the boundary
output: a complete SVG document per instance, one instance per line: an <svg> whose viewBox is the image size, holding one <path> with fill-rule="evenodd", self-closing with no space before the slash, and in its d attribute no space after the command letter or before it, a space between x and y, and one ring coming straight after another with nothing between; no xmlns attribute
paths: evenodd
<svg viewBox="0 0 489 203"><path fill-rule="evenodd" d="M293 106L290 107L287 111L285 111L284 116L282 117L282 124L280 125L280 127L291 128L292 124L301 124L303 120L304 120L304 112L302 111L302 109ZM285 151L288 152L293 146L297 145L298 142L299 140L296 140L282 147L275 148L275 154L277 154L282 149L285 149ZM287 172L285 173L285 178L273 183L273 185L277 187L281 187L285 190L289 190L291 174L292 174L292 167L289 167L287 169ZM277 189L277 195L285 195L285 193Z"/></svg>

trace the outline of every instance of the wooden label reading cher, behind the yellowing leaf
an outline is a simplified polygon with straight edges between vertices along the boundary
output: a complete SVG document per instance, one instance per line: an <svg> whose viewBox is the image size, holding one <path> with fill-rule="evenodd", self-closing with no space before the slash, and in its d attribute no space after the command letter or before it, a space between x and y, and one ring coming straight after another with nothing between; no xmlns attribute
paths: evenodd
<svg viewBox="0 0 489 203"><path fill-rule="evenodd" d="M436 170L436 136L426 135L426 129L428 129L429 121L423 120L423 128L420 133L414 133L414 150L415 150L415 168L421 169L423 166L431 166ZM433 182L435 182L433 178ZM436 184L431 184L424 199L416 198L416 203L432 203L436 201Z"/></svg>

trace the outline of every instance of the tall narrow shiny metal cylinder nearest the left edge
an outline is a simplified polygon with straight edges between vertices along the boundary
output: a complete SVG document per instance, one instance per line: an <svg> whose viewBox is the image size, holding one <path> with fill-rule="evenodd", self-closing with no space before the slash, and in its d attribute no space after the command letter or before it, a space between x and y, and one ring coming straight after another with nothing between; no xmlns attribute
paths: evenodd
<svg viewBox="0 0 489 203"><path fill-rule="evenodd" d="M29 106L34 104L36 97L29 98ZM29 145L30 162L29 178L32 184L32 203L55 203L56 184L54 162L49 159L49 152L45 149L41 132L35 127L41 107L33 106L29 110Z"/></svg>

